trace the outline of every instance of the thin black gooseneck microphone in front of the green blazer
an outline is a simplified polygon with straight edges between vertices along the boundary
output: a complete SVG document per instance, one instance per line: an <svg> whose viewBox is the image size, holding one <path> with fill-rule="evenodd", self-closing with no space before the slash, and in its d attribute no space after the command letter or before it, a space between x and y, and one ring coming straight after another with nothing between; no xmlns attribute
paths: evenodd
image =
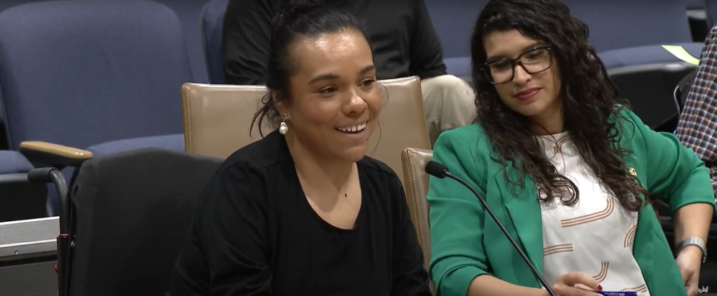
<svg viewBox="0 0 717 296"><path fill-rule="evenodd" d="M533 272L533 275L538 279L538 281L540 281L540 283L543 285L545 290L548 291L548 294L550 296L557 296L557 295L555 295L555 292L553 292L553 289L548 284L548 282L545 281L545 278L543 278L543 276L540 274L540 272L538 272L538 269L536 269L535 265L533 265L533 263L531 263L531 260L528 259L528 255L526 255L526 253L524 253L523 250L521 250L521 247L518 246L518 243L516 242L516 240L513 239L513 237L511 237L511 234L509 234L508 230L505 229L505 226L503 226L503 223L500 223L500 220L498 220L498 217L495 216L495 213L493 213L493 209L490 209L490 206L488 206L488 203L485 202L485 199L483 199L483 196L480 196L480 194L478 194L478 191L475 191L473 186L470 186L469 183L466 183L466 181L463 181L461 178L458 178L457 176L453 176L452 173L448 172L448 168L446 166L444 166L440 163L437 163L435 161L429 161L426 164L425 171L429 175L435 176L436 178L445 178L445 177L452 178L453 180L457 181L458 183L461 183L463 186L468 188L470 190L470 192L473 192L475 197L478 198L478 201L480 201L480 204L483 204L483 208L485 208L485 211L488 212L488 214L490 215L490 218L493 218L493 221L495 221L495 224L498 224L498 228L500 228L500 231L503 231L503 235L505 235L505 238L508 239L508 242L511 242L511 244L513 245L513 248L515 248L516 251L518 251L518 254L520 254L521 258L523 258L523 261L525 261L526 264L528 264L528 267L531 267L531 271Z"/></svg>

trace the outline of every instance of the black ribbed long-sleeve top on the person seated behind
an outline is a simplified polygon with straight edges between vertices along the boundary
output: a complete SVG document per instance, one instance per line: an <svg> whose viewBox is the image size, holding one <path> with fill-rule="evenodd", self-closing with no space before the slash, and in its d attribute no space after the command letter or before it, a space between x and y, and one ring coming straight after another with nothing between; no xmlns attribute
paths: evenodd
<svg viewBox="0 0 717 296"><path fill-rule="evenodd" d="M227 83L264 85L271 20L283 0L230 0L224 14ZM423 0L324 0L364 22L379 79L446 74L443 50Z"/></svg>

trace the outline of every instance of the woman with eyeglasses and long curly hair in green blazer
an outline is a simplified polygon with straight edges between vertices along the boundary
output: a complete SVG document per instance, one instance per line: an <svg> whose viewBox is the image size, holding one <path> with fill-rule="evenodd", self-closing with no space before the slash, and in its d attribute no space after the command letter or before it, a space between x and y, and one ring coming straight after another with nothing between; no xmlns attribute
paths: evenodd
<svg viewBox="0 0 717 296"><path fill-rule="evenodd" d="M557 0L489 1L471 40L478 118L443 133L433 160L485 196L557 295L695 295L709 171L616 104L586 39ZM670 205L676 242L655 200ZM438 295L548 295L467 188L431 178L428 201Z"/></svg>

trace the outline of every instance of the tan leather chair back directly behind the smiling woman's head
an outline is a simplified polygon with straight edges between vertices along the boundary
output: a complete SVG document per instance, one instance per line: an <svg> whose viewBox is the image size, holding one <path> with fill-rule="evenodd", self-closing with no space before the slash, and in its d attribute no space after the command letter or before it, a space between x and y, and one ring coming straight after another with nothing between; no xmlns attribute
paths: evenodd
<svg viewBox="0 0 717 296"><path fill-rule="evenodd" d="M401 151L409 147L430 148L421 82L418 77L406 77L379 83L386 87L386 105L379 118L381 128L369 140L368 155L386 163L402 179ZM186 152L227 158L259 140L256 126L251 137L249 128L266 93L261 86L184 84Z"/></svg>

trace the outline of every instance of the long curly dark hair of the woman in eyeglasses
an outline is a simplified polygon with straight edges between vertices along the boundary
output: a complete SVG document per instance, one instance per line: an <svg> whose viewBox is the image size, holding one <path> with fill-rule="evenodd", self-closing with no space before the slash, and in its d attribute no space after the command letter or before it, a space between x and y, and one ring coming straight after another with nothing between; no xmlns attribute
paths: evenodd
<svg viewBox="0 0 717 296"><path fill-rule="evenodd" d="M543 202L566 192L569 194L561 198L563 204L574 205L579 201L578 188L556 171L528 118L508 108L485 75L483 37L509 29L551 44L553 67L558 67L561 80L559 98L565 130L583 161L619 203L629 211L639 210L642 200L637 196L643 194L647 199L647 191L627 173L622 156L632 152L619 143L622 126L617 119L624 118L621 112L627 105L617 105L617 87L587 42L587 26L571 16L568 7L558 0L490 0L478 17L470 40L478 111L475 121L483 126L500 156L495 161L500 161L503 168L508 163L518 164L518 179L508 178L504 169L505 178L513 185L523 186L526 174L532 176L544 194Z"/></svg>

